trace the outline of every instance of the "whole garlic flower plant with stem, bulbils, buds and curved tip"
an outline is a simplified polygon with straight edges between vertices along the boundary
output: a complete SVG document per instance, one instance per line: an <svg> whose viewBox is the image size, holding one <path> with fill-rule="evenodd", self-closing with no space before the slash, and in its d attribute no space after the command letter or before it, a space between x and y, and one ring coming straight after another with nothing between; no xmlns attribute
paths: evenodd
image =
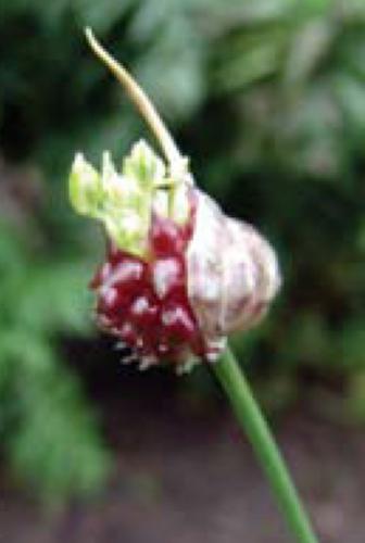
<svg viewBox="0 0 365 543"><path fill-rule="evenodd" d="M200 191L149 98L87 30L96 54L119 79L156 137L164 160L146 141L118 169L104 152L101 169L77 153L71 202L102 223L106 258L91 281L101 328L130 348L140 367L160 363L212 368L261 460L301 543L316 538L281 455L227 336L255 325L280 286L269 243L250 225L226 216Z"/></svg>

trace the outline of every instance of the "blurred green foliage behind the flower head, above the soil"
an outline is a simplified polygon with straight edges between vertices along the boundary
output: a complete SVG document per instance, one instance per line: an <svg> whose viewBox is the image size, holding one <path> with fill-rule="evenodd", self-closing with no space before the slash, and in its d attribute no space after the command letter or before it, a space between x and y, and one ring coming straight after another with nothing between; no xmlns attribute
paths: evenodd
<svg viewBox="0 0 365 543"><path fill-rule="evenodd" d="M364 2L13 0L0 7L2 453L60 498L97 488L109 465L58 352L60 333L90 333L86 282L102 251L65 180L77 149L121 159L144 127L85 25L146 88L199 182L279 250L279 302L234 339L263 394L281 406L300 377L340 376L363 419Z"/></svg>

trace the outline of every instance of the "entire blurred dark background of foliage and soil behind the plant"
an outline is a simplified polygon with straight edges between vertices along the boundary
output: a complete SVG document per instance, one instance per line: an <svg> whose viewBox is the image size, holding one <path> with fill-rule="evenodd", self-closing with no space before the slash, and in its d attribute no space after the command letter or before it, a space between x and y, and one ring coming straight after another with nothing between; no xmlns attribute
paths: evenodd
<svg viewBox="0 0 365 543"><path fill-rule="evenodd" d="M200 186L277 248L281 294L232 345L322 541L362 543L360 0L0 3L0 540L290 541L210 371L139 374L96 331L103 239L70 209L70 165L148 135L86 25Z"/></svg>

